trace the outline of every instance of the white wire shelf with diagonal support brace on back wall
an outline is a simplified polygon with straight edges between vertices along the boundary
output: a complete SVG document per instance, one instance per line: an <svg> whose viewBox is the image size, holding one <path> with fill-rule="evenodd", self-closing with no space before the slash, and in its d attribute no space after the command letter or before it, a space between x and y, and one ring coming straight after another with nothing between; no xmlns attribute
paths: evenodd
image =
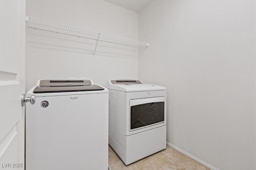
<svg viewBox="0 0 256 170"><path fill-rule="evenodd" d="M105 33L100 33L100 32L96 32L96 31L90 31L87 29L64 25L61 23L41 20L38 18L29 17L29 16L26 16L26 23L27 23L28 27L35 28L35 29L41 29L41 30L45 30L45 31L51 31L51 32L56 32L56 33L73 35L73 36L77 36L77 37L94 39L97 41L96 47L97 47L98 41L116 43L116 44L121 44L121 45L128 45L131 47L137 47L136 45L149 46L149 43L144 43L141 41L136 41L136 40L118 37L118 36L114 36L114 35L109 35L109 34L105 34ZM95 50L96 50L96 47L95 47ZM95 54L95 50L94 50L94 54Z"/></svg>

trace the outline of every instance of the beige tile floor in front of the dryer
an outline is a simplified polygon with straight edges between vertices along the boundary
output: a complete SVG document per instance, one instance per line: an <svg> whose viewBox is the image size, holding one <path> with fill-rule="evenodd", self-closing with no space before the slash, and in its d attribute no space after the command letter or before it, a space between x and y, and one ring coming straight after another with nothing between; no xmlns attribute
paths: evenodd
<svg viewBox="0 0 256 170"><path fill-rule="evenodd" d="M166 149L160 152L125 165L116 152L108 145L108 164L111 170L209 170L169 146L166 146Z"/></svg>

